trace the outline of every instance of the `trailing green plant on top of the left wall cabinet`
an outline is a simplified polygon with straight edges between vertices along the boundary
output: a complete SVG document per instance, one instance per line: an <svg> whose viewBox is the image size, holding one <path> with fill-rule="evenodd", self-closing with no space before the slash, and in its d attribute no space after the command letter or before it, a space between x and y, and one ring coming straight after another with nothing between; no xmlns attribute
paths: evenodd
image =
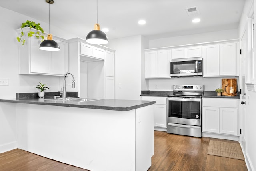
<svg viewBox="0 0 256 171"><path fill-rule="evenodd" d="M41 42L44 40L44 29L40 26L40 23L36 24L33 21L28 21L27 20L26 22L21 24L20 36L17 37L18 42L22 43L22 45L24 45L24 43L25 43L25 39L23 37L24 36L24 32L22 30L22 28L24 28L24 27L30 27L30 30L28 32L28 37L32 37L34 35L34 36L36 36L36 38L40 39ZM37 32L31 31L31 28L36 29Z"/></svg>

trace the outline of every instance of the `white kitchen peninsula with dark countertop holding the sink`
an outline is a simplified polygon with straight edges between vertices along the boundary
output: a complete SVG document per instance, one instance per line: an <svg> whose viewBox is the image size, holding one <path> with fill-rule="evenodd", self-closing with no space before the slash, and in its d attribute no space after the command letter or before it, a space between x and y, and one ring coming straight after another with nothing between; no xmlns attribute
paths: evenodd
<svg viewBox="0 0 256 171"><path fill-rule="evenodd" d="M151 166L155 101L0 102L16 112L19 149L92 171L146 171Z"/></svg>

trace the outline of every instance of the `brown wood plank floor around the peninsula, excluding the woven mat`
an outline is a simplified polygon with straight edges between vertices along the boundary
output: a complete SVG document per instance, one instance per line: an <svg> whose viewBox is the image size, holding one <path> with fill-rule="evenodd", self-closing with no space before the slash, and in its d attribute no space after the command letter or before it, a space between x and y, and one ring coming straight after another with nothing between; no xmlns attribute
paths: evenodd
<svg viewBox="0 0 256 171"><path fill-rule="evenodd" d="M187 137L161 131L154 134L154 156L148 171L247 171L243 160L207 155L209 141L213 138ZM0 154L0 171L86 170L14 149Z"/></svg>

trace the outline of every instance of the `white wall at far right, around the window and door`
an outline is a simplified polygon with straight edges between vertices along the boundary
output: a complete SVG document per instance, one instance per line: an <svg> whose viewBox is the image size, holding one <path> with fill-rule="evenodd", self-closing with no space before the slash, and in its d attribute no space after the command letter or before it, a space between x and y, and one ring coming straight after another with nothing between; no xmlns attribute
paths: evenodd
<svg viewBox="0 0 256 171"><path fill-rule="evenodd" d="M250 6L254 2L254 23L256 23L256 0L246 0L244 4L244 10L239 24L239 38L242 37L242 33L247 25L247 14L249 12ZM254 29L254 40L255 40L255 29ZM254 50L256 45L254 44ZM255 54L255 52L254 52ZM256 61L254 61L256 62ZM245 141L246 141L246 161L248 163L248 170L256 170L256 114L255 114L255 104L256 104L256 92L248 91L246 89L246 125L245 125Z"/></svg>

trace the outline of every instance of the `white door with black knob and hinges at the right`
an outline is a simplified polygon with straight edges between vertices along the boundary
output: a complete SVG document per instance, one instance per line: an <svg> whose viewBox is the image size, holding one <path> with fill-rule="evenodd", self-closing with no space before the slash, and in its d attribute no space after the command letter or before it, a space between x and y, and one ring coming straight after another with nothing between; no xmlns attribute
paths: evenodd
<svg viewBox="0 0 256 171"><path fill-rule="evenodd" d="M243 149L243 151L245 151L246 149L246 136L245 136L245 125L246 125L246 106L245 104L241 104L245 102L245 89L246 89L246 85L245 85L245 79L246 79L246 49L247 49L247 31L244 31L244 34L240 40L241 42L241 57L240 57L240 137L239 137L239 141L241 144L241 147Z"/></svg>

